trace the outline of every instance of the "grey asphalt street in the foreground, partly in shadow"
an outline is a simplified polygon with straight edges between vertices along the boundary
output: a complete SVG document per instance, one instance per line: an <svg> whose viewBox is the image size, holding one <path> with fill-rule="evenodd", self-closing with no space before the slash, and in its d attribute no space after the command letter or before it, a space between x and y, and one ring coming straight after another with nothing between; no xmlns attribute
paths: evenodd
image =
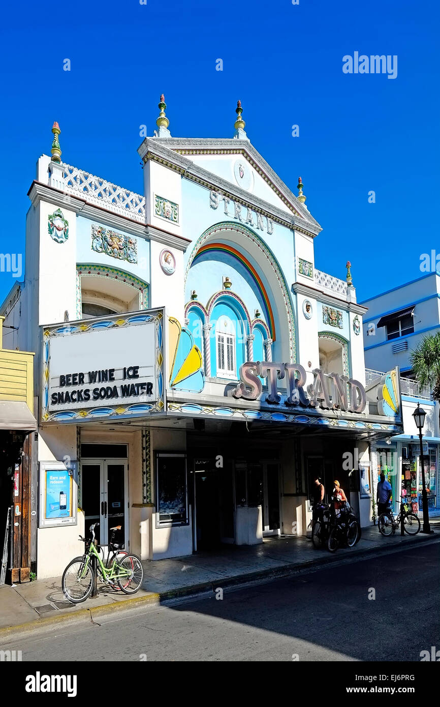
<svg viewBox="0 0 440 707"><path fill-rule="evenodd" d="M439 554L432 542L1 648L37 662L420 661L440 647Z"/></svg>

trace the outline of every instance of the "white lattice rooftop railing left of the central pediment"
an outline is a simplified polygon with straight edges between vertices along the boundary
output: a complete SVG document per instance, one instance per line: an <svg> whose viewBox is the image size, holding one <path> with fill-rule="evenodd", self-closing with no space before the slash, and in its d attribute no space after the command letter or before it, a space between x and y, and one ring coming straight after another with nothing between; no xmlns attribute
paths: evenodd
<svg viewBox="0 0 440 707"><path fill-rule="evenodd" d="M63 165L66 173L65 190L89 204L114 211L119 216L128 216L145 223L145 197L129 189L118 187L101 177L95 177L72 165Z"/></svg>

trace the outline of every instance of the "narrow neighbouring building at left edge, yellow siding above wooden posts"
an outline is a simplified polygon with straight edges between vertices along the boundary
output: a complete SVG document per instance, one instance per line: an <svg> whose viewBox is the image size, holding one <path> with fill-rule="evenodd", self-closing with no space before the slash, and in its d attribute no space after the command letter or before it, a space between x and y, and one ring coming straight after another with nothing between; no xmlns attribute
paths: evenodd
<svg viewBox="0 0 440 707"><path fill-rule="evenodd" d="M0 317L0 584L28 582L35 571L36 476L31 464L37 430L33 391L33 354L3 348ZM11 339L12 329L7 330ZM7 537L5 535L7 533Z"/></svg>

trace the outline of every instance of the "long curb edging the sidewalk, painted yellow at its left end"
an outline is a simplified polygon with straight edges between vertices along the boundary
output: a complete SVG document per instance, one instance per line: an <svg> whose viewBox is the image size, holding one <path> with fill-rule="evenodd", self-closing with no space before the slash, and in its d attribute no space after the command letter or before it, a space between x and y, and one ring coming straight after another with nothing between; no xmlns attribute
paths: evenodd
<svg viewBox="0 0 440 707"><path fill-rule="evenodd" d="M415 540L414 538L408 538L406 544L412 544L413 542L418 542L419 544L426 544L439 536L434 533L422 540ZM405 547L405 545L403 547ZM403 549L402 544L396 549ZM394 548L391 548L393 550ZM362 557L371 554L386 554L390 551L390 546L384 547L371 547L363 548L361 550L354 550L350 552L350 557ZM338 558L338 559L337 559ZM343 559L347 559L346 557ZM201 594L201 592L213 591L220 585L222 589L227 587L237 588L240 585L245 587L250 583L254 583L258 580L268 580L287 577L289 575L294 575L301 573L304 570L308 570L315 567L326 567L334 564L335 562L340 562L341 558L337 555L321 556L314 560L309 560L303 562L299 565L292 565L291 563L282 565L276 568L259 570L256 572L250 572L246 575L237 575L236 577L229 577L218 580L210 580L208 582L203 582L194 585L188 585L186 587L181 587L177 589L167 590L165 592L150 592L148 595L143 597L132 597L131 599L125 599L112 604L99 604L98 606L88 609L78 609L72 614L59 614L55 617L40 617L39 619L34 619L34 621L27 621L25 624L17 624L15 626L4 626L0 629L0 641L7 641L11 636L19 633L29 633L35 629L57 629L58 626L69 624L72 621L84 621L85 619L90 620L92 617L106 616L107 614L113 614L119 609L136 609L142 607L143 605L152 604L159 606L162 602L172 599L183 599L184 597L191 597ZM93 612L93 613L92 613Z"/></svg>

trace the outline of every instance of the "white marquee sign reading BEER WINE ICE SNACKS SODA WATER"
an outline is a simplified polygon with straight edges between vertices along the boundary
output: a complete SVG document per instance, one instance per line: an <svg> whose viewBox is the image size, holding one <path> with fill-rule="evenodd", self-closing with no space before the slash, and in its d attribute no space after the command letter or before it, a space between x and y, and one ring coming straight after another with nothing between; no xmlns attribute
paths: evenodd
<svg viewBox="0 0 440 707"><path fill-rule="evenodd" d="M162 410L162 325L153 310L44 327L42 420Z"/></svg>

